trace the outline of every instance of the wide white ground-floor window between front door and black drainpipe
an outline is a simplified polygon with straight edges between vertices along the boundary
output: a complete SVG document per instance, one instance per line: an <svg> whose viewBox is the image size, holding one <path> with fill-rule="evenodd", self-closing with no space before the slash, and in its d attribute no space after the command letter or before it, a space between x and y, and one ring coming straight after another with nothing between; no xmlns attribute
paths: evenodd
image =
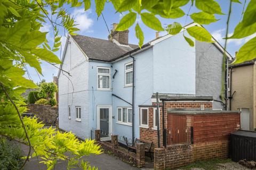
<svg viewBox="0 0 256 170"><path fill-rule="evenodd" d="M122 124L132 124L132 108L118 107L117 108L117 122Z"/></svg>

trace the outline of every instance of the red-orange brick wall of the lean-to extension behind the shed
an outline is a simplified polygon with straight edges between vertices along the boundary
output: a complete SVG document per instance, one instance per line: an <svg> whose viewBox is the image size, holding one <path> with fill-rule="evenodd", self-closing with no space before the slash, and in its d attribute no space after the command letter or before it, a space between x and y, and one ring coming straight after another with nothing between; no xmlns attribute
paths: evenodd
<svg viewBox="0 0 256 170"><path fill-rule="evenodd" d="M164 120L165 120L165 128L167 128L167 108L192 108L192 109L200 109L201 105L204 105L205 109L212 109L212 102L165 102L164 104ZM153 103L153 106L156 106L156 103ZM148 113L148 128L140 128L140 140L146 142L153 142L154 146L157 146L157 130L153 127L153 117L154 117L154 108L149 107ZM163 134L162 134L162 103L159 103L159 113L160 113L160 141L161 146L163 146ZM191 119L188 118L187 125L191 126Z"/></svg>

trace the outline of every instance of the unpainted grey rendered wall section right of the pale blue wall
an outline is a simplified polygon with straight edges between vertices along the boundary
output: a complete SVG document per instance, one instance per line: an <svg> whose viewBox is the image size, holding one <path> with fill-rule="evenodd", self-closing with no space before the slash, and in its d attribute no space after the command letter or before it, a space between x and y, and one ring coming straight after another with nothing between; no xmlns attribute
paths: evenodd
<svg viewBox="0 0 256 170"><path fill-rule="evenodd" d="M196 96L213 96L221 101L223 53L213 44L195 42L196 53ZM223 109L223 105L213 102L213 109Z"/></svg>

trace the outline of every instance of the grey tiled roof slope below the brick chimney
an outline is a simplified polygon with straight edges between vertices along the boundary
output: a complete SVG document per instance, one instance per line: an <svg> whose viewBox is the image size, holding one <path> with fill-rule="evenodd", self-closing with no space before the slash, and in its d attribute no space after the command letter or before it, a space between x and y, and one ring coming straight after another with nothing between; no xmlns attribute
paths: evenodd
<svg viewBox="0 0 256 170"><path fill-rule="evenodd" d="M83 52L89 57L89 60L112 61L116 58L138 48L137 45L129 44L129 47L119 46L113 41L92 38L82 35L71 36Z"/></svg>

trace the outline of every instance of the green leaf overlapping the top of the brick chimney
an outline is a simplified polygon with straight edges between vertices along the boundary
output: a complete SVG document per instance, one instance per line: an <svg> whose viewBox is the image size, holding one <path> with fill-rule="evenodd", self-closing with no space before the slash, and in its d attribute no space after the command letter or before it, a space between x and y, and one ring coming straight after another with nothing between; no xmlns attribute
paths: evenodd
<svg viewBox="0 0 256 170"><path fill-rule="evenodd" d="M116 30L117 31L127 30L135 22L136 16L137 16L137 14L134 12L130 12L130 13L124 15L124 17L121 19L121 21L117 25Z"/></svg>

